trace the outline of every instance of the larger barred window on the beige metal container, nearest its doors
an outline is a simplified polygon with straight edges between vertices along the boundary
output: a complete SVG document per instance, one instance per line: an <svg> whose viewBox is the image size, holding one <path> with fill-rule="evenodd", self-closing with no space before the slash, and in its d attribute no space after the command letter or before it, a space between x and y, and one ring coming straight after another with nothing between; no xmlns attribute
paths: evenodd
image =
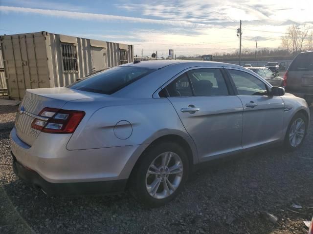
<svg viewBox="0 0 313 234"><path fill-rule="evenodd" d="M62 43L62 62L63 62L63 71L64 72L77 72L77 51L76 45Z"/></svg>

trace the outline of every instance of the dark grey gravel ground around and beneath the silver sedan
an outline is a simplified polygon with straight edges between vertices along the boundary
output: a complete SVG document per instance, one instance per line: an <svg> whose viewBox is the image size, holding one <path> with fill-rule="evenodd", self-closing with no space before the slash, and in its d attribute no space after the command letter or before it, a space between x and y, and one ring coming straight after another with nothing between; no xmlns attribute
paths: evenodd
<svg viewBox="0 0 313 234"><path fill-rule="evenodd" d="M308 232L303 220L313 216L313 121L300 150L285 153L276 146L210 163L171 204L146 209L128 193L48 197L25 185L11 167L8 128L16 111L0 106L0 233ZM267 213L278 221L270 222Z"/></svg>

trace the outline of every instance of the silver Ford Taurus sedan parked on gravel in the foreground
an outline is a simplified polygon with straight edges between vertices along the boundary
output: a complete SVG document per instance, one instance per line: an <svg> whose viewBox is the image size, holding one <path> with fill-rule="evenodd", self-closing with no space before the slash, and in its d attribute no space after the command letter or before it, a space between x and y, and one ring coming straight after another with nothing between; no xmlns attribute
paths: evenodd
<svg viewBox="0 0 313 234"><path fill-rule="evenodd" d="M160 206L196 164L272 143L296 150L309 115L304 99L241 66L135 61L27 90L10 134L13 167L48 195L130 189Z"/></svg>

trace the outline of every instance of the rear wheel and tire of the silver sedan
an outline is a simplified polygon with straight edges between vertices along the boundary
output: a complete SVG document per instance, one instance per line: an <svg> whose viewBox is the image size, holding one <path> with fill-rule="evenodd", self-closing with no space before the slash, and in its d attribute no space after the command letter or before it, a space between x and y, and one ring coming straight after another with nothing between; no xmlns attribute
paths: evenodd
<svg viewBox="0 0 313 234"><path fill-rule="evenodd" d="M164 165L166 162L163 163L164 158L171 158L167 166ZM180 167L182 173L178 173L179 169L173 170ZM149 174L148 170L156 174ZM176 174L170 174L170 171ZM147 207L162 206L181 192L186 183L188 171L189 161L179 144L162 142L152 145L140 156L134 167L130 178L130 192L136 200ZM158 187L157 189L154 189L156 188L154 184Z"/></svg>

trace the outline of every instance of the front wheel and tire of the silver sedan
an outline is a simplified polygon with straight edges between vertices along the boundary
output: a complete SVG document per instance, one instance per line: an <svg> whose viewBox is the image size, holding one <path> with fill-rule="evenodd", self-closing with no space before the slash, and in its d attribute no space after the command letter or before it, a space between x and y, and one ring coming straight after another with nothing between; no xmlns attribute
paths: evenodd
<svg viewBox="0 0 313 234"><path fill-rule="evenodd" d="M301 132L303 132L301 133L301 135L303 134L301 141L300 141L300 138L294 138L294 137L301 136L300 134L297 135L297 133L295 132L295 130L297 129L296 125L300 123L303 124L301 125L303 127L301 127L301 129L298 129L298 130L301 130ZM287 151L297 150L303 144L303 141L307 135L307 130L308 130L308 118L302 113L295 114L295 116L292 117L289 123L288 129L287 129L287 132L286 132L285 142L284 142L285 149Z"/></svg>

